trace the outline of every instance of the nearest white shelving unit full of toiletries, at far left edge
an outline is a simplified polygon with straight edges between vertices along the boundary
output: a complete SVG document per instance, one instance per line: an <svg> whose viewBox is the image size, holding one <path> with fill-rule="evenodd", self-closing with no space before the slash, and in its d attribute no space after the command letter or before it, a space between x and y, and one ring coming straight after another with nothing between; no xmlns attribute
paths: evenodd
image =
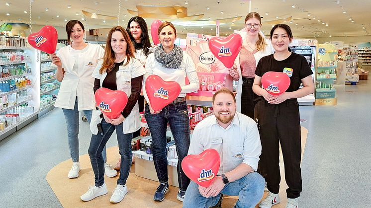
<svg viewBox="0 0 371 208"><path fill-rule="evenodd" d="M10 37L10 41L25 45L24 39ZM37 118L40 104L40 52L30 47L18 46L0 46L0 52L0 82L4 87L0 88L4 90L0 92L4 102L0 103L1 140Z"/></svg>

